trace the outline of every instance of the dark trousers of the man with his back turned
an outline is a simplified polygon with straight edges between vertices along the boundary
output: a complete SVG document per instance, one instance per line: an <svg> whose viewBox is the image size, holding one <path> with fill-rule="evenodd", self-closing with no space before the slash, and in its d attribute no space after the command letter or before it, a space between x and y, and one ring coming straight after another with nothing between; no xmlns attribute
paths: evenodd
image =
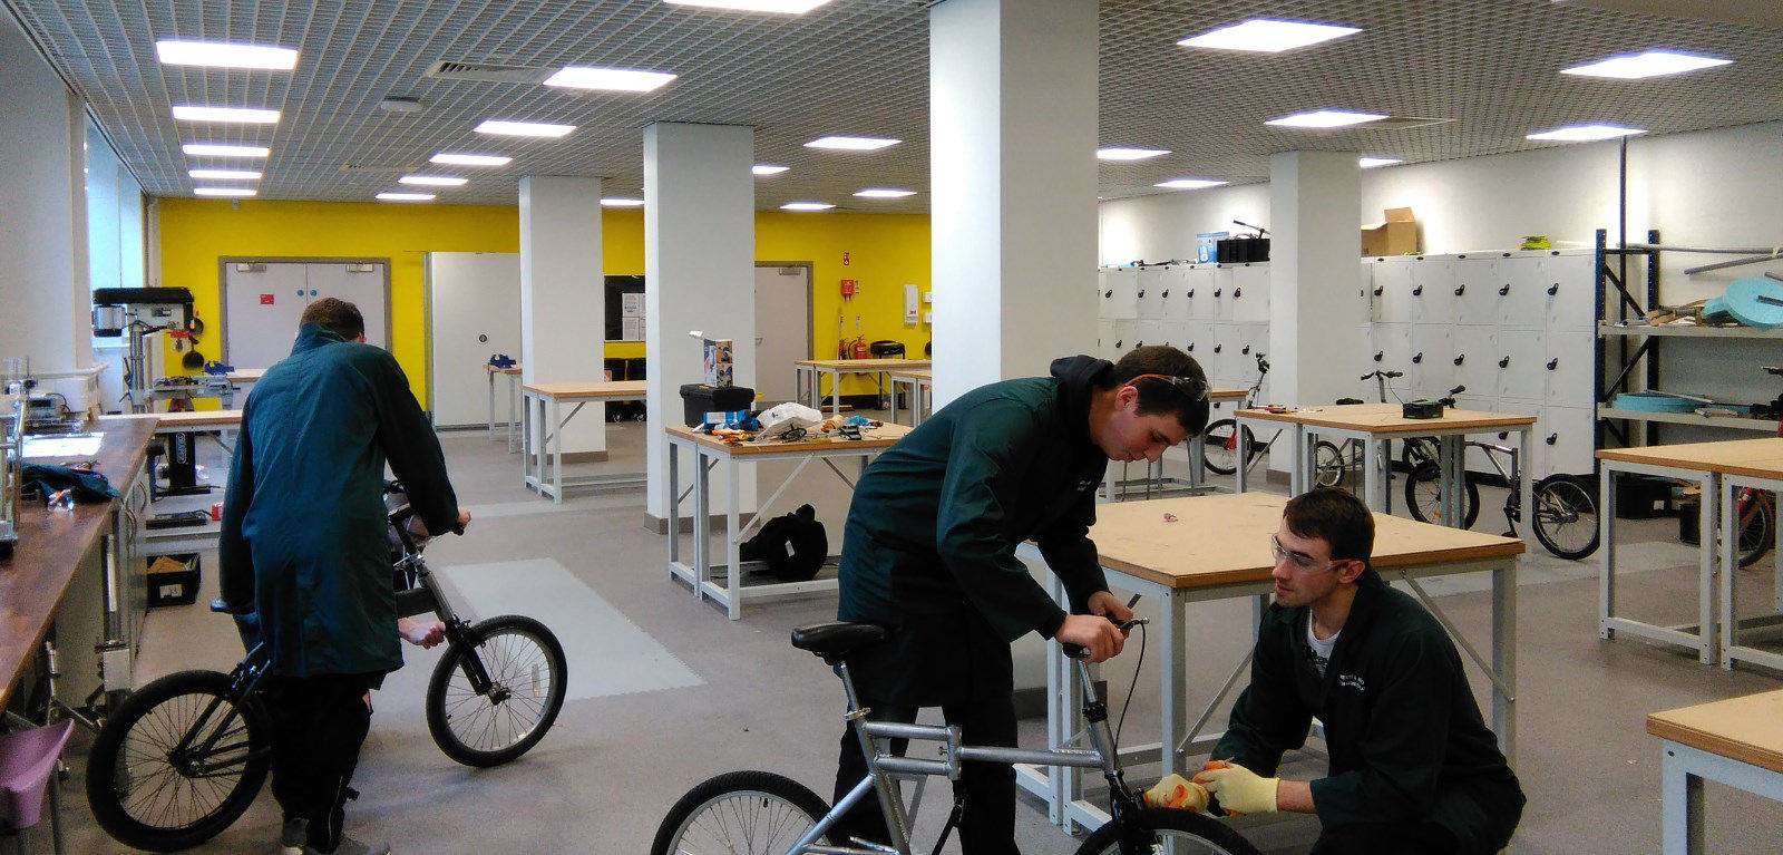
<svg viewBox="0 0 1783 855"><path fill-rule="evenodd" d="M367 675L267 677L273 798L285 819L308 819L308 846L333 851L346 821L348 782L371 728Z"/></svg>

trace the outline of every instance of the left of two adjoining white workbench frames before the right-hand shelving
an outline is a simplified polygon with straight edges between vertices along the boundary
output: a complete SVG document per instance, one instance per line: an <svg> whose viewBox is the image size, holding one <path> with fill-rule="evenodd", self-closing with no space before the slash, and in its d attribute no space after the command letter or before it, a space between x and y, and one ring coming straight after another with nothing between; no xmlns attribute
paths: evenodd
<svg viewBox="0 0 1783 855"><path fill-rule="evenodd" d="M1703 534L1697 546L1696 625L1660 627L1615 614L1615 475L1655 475L1696 482L1703 494L1697 509L1697 532L1715 532L1721 475L1708 468L1662 466L1610 457L1599 457L1598 464L1598 637L1614 639L1617 632L1626 632L1696 650L1697 662L1713 664L1719 639L1715 637L1715 537L1712 534Z"/></svg>

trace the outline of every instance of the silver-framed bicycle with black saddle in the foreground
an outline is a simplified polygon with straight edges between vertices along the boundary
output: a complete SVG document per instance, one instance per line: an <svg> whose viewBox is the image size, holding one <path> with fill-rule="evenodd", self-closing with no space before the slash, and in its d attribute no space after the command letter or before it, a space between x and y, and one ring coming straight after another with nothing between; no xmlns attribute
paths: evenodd
<svg viewBox="0 0 1783 855"><path fill-rule="evenodd" d="M1132 621L1123 627L1130 627ZM849 698L843 716L854 726L867 755L867 776L833 809L806 785L768 771L731 771L699 784L669 809L651 843L651 855L909 855L911 819L899 793L899 776L945 775L959 778L963 762L1032 762L1102 769L1109 784L1107 823L1089 834L1077 855L1107 853L1223 853L1257 855L1257 848L1207 814L1179 809L1148 809L1141 793L1122 776L1114 735L1107 725L1107 707L1089 680L1089 666L1077 660L1084 685L1084 718L1093 748L1022 750L959 744L959 728L868 721L849 677L847 657L886 639L888 630L872 623L817 623L792 630L792 646L824 659L842 678ZM1066 653L1072 650L1066 646ZM1141 650L1143 653L1143 650ZM1075 659L1075 655L1073 655ZM888 750L890 739L941 743L940 760L899 757ZM920 794L920 778L918 778ZM852 807L877 798L892 834L892 846L863 841L838 841L829 828ZM941 851L956 814L941 830L934 851ZM1164 844L1170 848L1159 850Z"/></svg>

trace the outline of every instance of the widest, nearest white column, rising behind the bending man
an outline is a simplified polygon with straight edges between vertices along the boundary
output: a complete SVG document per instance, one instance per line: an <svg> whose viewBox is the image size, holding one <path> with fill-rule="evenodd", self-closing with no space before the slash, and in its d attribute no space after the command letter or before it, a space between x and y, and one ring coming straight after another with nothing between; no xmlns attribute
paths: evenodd
<svg viewBox="0 0 1783 855"><path fill-rule="evenodd" d="M934 405L1095 346L1097 4L929 11Z"/></svg>

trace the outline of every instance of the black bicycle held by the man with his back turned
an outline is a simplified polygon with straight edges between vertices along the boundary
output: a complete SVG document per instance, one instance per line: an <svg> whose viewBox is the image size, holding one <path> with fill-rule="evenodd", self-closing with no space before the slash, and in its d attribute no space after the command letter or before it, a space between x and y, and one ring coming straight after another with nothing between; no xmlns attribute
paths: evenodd
<svg viewBox="0 0 1783 855"><path fill-rule="evenodd" d="M446 655L428 680L428 732L465 766L510 762L544 739L563 707L563 646L542 623L458 616L408 532L414 509L389 487L398 614L433 612ZM212 612L228 614L216 600ZM394 625L390 627L394 632ZM100 726L87 755L87 803L105 834L152 851L216 837L241 818L271 768L271 718L260 680L271 652L255 644L234 671L178 671L137 689Z"/></svg>

